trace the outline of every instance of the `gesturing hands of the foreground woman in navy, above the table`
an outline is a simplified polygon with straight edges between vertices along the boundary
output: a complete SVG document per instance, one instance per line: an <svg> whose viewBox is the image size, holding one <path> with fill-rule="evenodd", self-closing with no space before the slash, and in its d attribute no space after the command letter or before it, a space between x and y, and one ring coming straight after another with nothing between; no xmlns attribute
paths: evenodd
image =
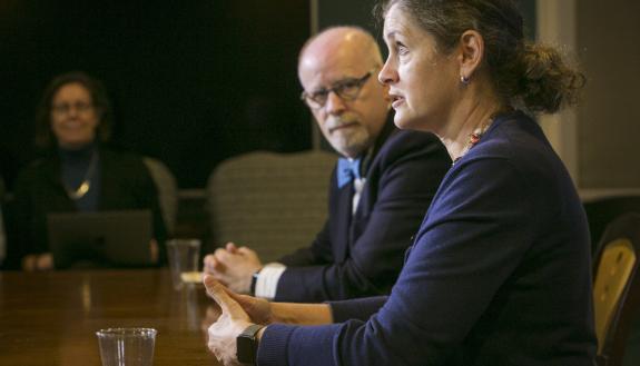
<svg viewBox="0 0 640 366"><path fill-rule="evenodd" d="M204 283L207 294L218 304L221 311L216 323L209 327L209 349L223 365L238 366L240 364L237 359L236 337L252 325L252 320L214 277L205 275Z"/></svg>

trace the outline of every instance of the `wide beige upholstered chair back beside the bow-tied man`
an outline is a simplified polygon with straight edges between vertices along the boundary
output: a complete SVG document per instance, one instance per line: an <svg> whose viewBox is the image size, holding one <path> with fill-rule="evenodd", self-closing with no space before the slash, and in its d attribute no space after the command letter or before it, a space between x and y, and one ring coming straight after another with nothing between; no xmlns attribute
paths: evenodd
<svg viewBox="0 0 640 366"><path fill-rule="evenodd" d="M258 151L221 162L207 187L214 245L245 245L265 263L308 246L326 219L335 161L325 151Z"/></svg>

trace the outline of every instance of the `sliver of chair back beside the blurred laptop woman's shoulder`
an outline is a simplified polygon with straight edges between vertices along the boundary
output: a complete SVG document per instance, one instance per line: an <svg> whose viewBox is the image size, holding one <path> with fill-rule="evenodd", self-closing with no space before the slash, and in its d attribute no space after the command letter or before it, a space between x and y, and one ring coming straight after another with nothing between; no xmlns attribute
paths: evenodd
<svg viewBox="0 0 640 366"><path fill-rule="evenodd" d="M158 200L163 210L167 234L171 235L176 228L178 211L178 185L176 184L176 178L163 161L149 157L142 158L142 161L149 169L149 174L158 189Z"/></svg>

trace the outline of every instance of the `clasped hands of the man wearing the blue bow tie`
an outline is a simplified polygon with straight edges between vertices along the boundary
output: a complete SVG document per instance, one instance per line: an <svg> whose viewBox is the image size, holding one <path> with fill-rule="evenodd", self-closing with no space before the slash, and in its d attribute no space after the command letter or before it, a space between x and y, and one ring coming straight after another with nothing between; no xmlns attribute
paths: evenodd
<svg viewBox="0 0 640 366"><path fill-rule="evenodd" d="M247 247L237 248L233 243L227 243L224 249L216 249L213 255L206 256L204 261L206 274L239 294L250 293L252 277L263 268L254 250Z"/></svg>

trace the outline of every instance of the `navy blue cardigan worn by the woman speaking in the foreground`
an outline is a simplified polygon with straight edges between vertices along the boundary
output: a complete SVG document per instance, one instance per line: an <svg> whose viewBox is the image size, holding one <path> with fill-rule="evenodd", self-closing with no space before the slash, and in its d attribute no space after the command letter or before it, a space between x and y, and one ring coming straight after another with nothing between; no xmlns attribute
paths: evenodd
<svg viewBox="0 0 640 366"><path fill-rule="evenodd" d="M592 299L589 230L571 177L535 121L513 112L445 176L386 303L332 303L331 325L269 325L257 359L592 366Z"/></svg>

